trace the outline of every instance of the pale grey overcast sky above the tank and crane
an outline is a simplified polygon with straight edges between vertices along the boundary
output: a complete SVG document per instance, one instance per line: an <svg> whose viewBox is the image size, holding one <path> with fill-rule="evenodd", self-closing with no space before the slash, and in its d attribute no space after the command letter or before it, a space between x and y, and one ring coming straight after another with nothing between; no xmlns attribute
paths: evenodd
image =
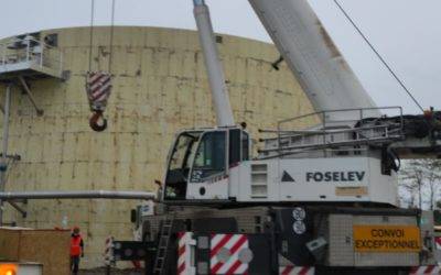
<svg viewBox="0 0 441 275"><path fill-rule="evenodd" d="M309 0L378 106L418 108L356 34L332 0ZM340 0L426 108L441 109L441 1ZM97 25L111 0L96 0ZM247 0L207 0L216 32L270 42ZM2 0L0 37L88 25L90 0ZM195 29L192 0L117 0L116 24Z"/></svg>

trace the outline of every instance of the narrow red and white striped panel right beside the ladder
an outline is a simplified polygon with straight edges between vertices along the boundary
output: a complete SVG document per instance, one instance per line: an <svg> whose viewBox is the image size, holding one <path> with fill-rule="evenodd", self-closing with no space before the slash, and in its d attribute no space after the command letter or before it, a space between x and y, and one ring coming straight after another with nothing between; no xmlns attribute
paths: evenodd
<svg viewBox="0 0 441 275"><path fill-rule="evenodd" d="M191 245L194 244L192 232L178 233L178 275L192 275L195 270L192 267Z"/></svg>

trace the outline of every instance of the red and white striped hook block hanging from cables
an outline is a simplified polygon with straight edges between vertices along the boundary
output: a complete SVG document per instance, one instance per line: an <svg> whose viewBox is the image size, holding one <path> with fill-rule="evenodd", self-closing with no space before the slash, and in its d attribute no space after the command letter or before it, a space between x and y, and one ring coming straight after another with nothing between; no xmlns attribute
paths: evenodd
<svg viewBox="0 0 441 275"><path fill-rule="evenodd" d="M111 91L111 75L105 72L87 73L87 96L90 103L106 101Z"/></svg>

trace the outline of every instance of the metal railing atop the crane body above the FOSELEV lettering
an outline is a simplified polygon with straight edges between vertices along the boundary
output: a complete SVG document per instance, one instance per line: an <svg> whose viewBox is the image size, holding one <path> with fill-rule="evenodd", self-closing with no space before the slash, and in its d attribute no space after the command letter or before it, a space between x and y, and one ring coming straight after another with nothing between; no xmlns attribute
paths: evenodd
<svg viewBox="0 0 441 275"><path fill-rule="evenodd" d="M389 117L378 116L383 112ZM304 125L311 121L320 123L305 129ZM401 107L313 112L279 121L277 130L260 130L260 132L276 135L261 140L266 143L265 148L259 150L263 157L313 151L323 151L324 156L330 151L361 152L363 145L386 144L402 140L405 136Z"/></svg>

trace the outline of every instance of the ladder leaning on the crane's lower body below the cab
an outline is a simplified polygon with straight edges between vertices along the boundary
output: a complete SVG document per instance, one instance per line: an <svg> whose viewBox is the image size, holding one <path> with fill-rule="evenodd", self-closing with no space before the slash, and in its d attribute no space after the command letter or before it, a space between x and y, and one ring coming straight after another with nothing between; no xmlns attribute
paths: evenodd
<svg viewBox="0 0 441 275"><path fill-rule="evenodd" d="M162 275L164 274L164 264L166 260L166 252L169 249L171 232L174 222L174 213L166 216L161 226L161 231L159 235L159 244L157 257L154 260L153 274Z"/></svg>

